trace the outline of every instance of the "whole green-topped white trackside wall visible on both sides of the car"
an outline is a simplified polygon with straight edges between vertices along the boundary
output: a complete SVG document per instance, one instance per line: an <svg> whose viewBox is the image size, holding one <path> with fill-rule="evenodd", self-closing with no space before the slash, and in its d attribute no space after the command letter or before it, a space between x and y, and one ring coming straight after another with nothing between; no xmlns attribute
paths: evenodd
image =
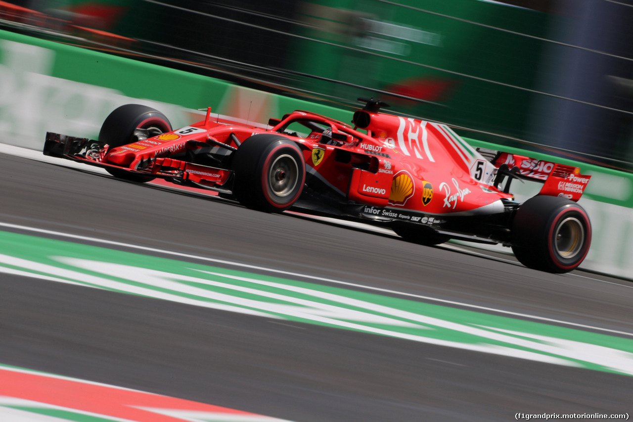
<svg viewBox="0 0 633 422"><path fill-rule="evenodd" d="M348 110L0 30L0 143L41 150L47 131L94 139L107 115L127 103L160 110L173 127L202 120L204 112L197 109L207 106L213 113L261 125L269 117L306 109L351 120ZM633 175L516 148L504 150L579 165L583 174L591 174L580 204L589 212L594 237L582 268L633 279ZM513 191L521 199L540 188L515 182Z"/></svg>

